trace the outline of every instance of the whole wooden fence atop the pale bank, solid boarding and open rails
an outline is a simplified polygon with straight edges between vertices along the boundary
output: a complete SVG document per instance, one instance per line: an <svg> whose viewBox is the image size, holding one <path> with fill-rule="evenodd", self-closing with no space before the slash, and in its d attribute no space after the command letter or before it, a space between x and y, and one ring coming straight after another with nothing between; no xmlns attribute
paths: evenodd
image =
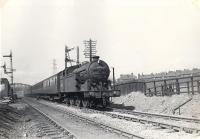
<svg viewBox="0 0 200 139"><path fill-rule="evenodd" d="M189 93L200 94L200 75L166 78L149 81L131 81L118 83L115 88L121 91L121 95L140 91L147 96L170 96L173 94Z"/></svg>

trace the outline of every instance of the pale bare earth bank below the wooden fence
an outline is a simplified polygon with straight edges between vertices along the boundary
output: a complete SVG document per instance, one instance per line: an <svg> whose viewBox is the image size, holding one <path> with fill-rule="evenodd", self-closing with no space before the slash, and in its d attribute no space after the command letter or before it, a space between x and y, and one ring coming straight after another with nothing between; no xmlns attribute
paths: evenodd
<svg viewBox="0 0 200 139"><path fill-rule="evenodd" d="M192 98L191 101L187 102L188 99ZM180 107L180 115L200 118L200 94L180 94L172 96L145 96L141 92L132 92L130 94L113 98L114 105L124 106L125 108L132 108L135 111L159 113L172 115L173 110L187 102L185 105ZM179 115L179 112L175 112L175 115Z"/></svg>

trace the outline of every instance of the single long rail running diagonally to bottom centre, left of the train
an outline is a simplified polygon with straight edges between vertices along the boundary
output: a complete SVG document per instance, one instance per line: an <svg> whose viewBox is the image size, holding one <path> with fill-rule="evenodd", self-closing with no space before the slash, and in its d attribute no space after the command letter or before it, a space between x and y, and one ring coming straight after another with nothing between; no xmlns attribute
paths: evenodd
<svg viewBox="0 0 200 139"><path fill-rule="evenodd" d="M49 105L46 105L46 104L42 104L42 103L39 103L37 102L38 104L40 105L44 105L45 107L51 107ZM86 122L88 124L92 124L92 125L95 125L95 126L98 126L100 128L102 128L103 130L106 130L106 131L109 131L111 133L115 133L119 136L123 136L123 137L126 137L126 138L129 138L129 139L145 139L144 137L141 137L141 136L138 136L138 135L135 135L135 134L132 134L132 133L129 133L129 132L126 132L126 131L123 131L123 130L120 130L120 129L117 129L117 128L114 128L114 127L111 127L109 125L106 125L104 123L100 123L100 122L97 122L97 121L94 121L94 120L91 120L90 118L87 118L85 116L81 116L81 115L77 115L71 111L65 111L63 109L60 109L60 108L54 108L54 107L51 107L52 109L54 109L55 111L59 111L65 115L68 115L70 117L75 117L83 122Z"/></svg>

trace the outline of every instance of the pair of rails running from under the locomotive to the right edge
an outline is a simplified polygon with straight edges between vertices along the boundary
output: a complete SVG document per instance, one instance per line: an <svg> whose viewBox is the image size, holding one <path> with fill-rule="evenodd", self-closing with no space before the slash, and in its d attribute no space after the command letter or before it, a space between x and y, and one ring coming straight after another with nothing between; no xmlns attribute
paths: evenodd
<svg viewBox="0 0 200 139"><path fill-rule="evenodd" d="M85 108L84 108L85 109ZM141 112L128 112L128 111L122 111L122 110L118 110L118 112L120 112L119 114L116 113L112 113L112 112L105 112L105 111L97 111L97 110L93 110L93 109L85 109L86 111L90 111L90 112L94 112L94 113L100 113L100 114L104 114L107 116L110 116L112 118L118 118L118 119L123 119L126 121L131 121L131 122L139 122L142 124L152 124L154 126L158 126L160 128L163 129L172 129L174 131L184 131L186 133L200 133L200 128L193 128L193 127L188 127L188 126L181 126L181 125L176 125L176 124L171 124L171 123L167 123L167 122L159 122L159 121L155 121L155 120L150 120L147 118L141 118L141 116L154 116L154 114L150 114L150 113L143 113ZM129 115L124 115L124 114L129 114ZM131 114L131 115L130 115ZM132 115L136 115L139 117L132 117ZM159 114L155 114L155 117L159 117L159 118L167 118L169 120L179 120L179 121L184 121L184 120L188 120L189 122L192 121L191 118L182 118L182 117L175 117L175 116L167 116L167 115L159 115ZM198 121L198 119L195 119L196 121ZM196 122L195 121L195 122Z"/></svg>

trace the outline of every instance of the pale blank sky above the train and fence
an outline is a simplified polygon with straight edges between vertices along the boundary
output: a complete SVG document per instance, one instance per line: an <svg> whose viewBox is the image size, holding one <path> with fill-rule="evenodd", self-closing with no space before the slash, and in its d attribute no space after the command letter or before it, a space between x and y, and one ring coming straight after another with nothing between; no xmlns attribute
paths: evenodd
<svg viewBox="0 0 200 139"><path fill-rule="evenodd" d="M97 40L97 55L125 73L200 68L199 0L1 0L1 54L14 81L33 84L64 68L64 47ZM71 55L76 58L75 52ZM1 57L1 64L9 61ZM1 76L7 77L1 71Z"/></svg>

